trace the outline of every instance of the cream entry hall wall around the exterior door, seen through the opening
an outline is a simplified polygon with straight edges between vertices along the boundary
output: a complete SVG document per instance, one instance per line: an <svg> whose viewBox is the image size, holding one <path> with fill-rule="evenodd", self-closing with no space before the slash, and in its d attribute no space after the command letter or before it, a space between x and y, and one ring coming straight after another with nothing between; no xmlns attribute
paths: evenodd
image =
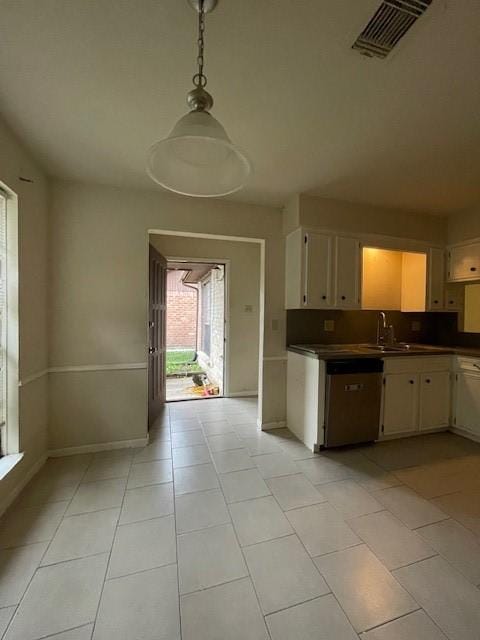
<svg viewBox="0 0 480 640"><path fill-rule="evenodd" d="M164 256L230 261L229 392L256 392L260 321L260 245L252 242L165 235L151 235L150 242ZM246 312L246 306L251 306L252 311Z"/></svg>

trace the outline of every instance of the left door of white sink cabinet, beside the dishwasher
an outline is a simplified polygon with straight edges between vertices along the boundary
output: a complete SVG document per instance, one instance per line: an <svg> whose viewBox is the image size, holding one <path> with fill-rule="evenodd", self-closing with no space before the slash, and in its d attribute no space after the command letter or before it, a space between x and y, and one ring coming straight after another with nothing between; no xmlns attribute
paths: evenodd
<svg viewBox="0 0 480 640"><path fill-rule="evenodd" d="M418 426L418 385L415 373L393 373L384 378L382 434L416 431Z"/></svg>

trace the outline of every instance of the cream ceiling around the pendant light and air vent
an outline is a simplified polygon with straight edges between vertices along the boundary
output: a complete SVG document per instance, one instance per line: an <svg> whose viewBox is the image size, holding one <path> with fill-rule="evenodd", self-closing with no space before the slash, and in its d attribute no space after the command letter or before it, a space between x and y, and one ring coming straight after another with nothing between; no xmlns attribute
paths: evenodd
<svg viewBox="0 0 480 640"><path fill-rule="evenodd" d="M208 16L213 113L255 167L236 199L480 202L480 2L433 0L384 61L351 50L378 5L220 0ZM186 111L195 20L186 0L2 0L0 112L50 175L156 188L146 150Z"/></svg>

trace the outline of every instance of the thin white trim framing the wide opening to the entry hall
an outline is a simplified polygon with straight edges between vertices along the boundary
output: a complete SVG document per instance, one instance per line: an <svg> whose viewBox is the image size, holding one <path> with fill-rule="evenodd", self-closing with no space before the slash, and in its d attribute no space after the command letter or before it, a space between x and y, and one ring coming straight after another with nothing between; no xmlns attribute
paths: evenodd
<svg viewBox="0 0 480 640"><path fill-rule="evenodd" d="M250 242L258 244L260 247L260 274L259 274L259 330L258 330L258 402L257 402L257 424L261 426L263 423L263 362L264 362L264 343L265 343L265 243L264 238L249 238L245 236L227 236L215 233L195 233L193 231L180 231L172 229L147 229L145 238L145 287L148 287L148 246L150 244L151 235L163 236L179 236L182 238L201 238L204 240L226 240L228 242ZM148 291L148 289L147 289ZM148 297L148 296L147 296ZM145 336L148 343L148 300L145 304ZM276 358L273 357L273 360ZM284 359L283 357L281 358ZM272 358L266 358L271 361ZM147 385L148 386L148 385ZM145 398L148 401L148 393Z"/></svg>

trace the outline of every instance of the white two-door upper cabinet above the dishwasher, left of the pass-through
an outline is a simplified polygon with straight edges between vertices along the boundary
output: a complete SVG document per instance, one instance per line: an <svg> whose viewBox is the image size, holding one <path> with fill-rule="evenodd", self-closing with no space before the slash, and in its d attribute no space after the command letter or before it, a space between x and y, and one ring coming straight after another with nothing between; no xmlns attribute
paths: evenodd
<svg viewBox="0 0 480 640"><path fill-rule="evenodd" d="M358 309L360 242L297 229L286 239L287 309Z"/></svg>

